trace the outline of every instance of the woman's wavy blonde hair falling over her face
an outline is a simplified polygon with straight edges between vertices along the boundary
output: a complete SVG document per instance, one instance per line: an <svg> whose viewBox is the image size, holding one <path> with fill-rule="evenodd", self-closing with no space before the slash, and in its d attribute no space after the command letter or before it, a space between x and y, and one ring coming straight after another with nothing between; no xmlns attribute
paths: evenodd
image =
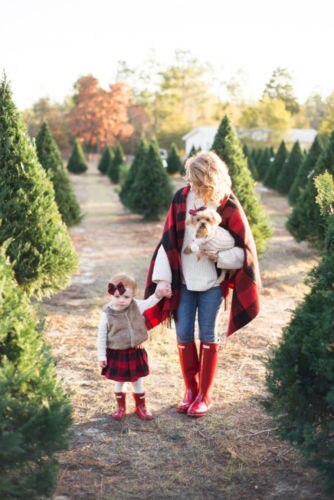
<svg viewBox="0 0 334 500"><path fill-rule="evenodd" d="M226 164L213 151L200 151L188 158L184 180L205 203L220 203L231 193L231 178Z"/></svg>

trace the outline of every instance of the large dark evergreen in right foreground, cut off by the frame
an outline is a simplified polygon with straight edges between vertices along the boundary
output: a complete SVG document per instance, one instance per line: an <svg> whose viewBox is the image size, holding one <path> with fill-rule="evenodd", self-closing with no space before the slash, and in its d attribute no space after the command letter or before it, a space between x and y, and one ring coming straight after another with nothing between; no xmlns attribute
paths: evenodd
<svg viewBox="0 0 334 500"><path fill-rule="evenodd" d="M269 356L269 395L263 404L274 417L279 435L299 448L334 492L334 181L326 176L330 177L327 173L318 179L325 197L331 197L331 215L324 215L322 261L310 273L310 292Z"/></svg>

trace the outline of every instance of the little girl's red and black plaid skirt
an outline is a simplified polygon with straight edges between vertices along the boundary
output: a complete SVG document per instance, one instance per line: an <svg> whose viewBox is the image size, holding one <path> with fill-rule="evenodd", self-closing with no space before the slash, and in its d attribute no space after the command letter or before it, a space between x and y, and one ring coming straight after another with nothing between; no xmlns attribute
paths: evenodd
<svg viewBox="0 0 334 500"><path fill-rule="evenodd" d="M117 382L135 382L149 374L147 352L141 347L108 349L101 375Z"/></svg>

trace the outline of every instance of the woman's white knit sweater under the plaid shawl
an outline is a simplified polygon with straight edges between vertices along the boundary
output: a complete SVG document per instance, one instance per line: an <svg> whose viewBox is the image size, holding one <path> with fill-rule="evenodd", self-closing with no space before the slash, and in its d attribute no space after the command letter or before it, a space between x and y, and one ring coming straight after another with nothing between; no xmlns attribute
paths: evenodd
<svg viewBox="0 0 334 500"><path fill-rule="evenodd" d="M189 191L187 195L187 213L192 208L199 208L204 205L201 198L197 198L193 191ZM217 209L217 204L212 202L207 203L208 208ZM194 253L185 254L183 249L193 240L195 228L191 224L185 226L185 234L183 247L181 252L181 268L182 268L182 281L186 284L188 290L192 291L205 291L213 286L217 286L217 272L215 263L207 257L202 256L200 260L196 259ZM221 247L218 252L217 266L220 269L240 269L244 263L244 250L239 247L231 246L234 243L232 235L223 228L217 231L217 238L215 237L215 244ZM226 250L229 248L229 250ZM171 282L172 273L166 255L165 249L161 245L157 253L152 280L157 283L164 280Z"/></svg>

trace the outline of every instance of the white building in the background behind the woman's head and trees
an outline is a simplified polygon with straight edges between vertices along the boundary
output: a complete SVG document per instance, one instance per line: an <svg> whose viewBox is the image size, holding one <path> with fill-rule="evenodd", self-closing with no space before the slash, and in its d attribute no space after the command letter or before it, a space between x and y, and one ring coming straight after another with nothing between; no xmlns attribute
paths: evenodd
<svg viewBox="0 0 334 500"><path fill-rule="evenodd" d="M196 149L201 149L207 151L211 148L213 140L215 138L218 127L207 126L207 127L196 127L190 132L182 137L185 141L185 151L186 156L190 153L191 148L194 146ZM269 129L265 128L254 128L246 129L239 128L237 134L240 139L244 137L249 137L254 141L265 142L269 137ZM317 131L314 129L302 129L302 128L292 128L284 134L284 141L293 144L299 141L302 148L309 148L317 135Z"/></svg>

